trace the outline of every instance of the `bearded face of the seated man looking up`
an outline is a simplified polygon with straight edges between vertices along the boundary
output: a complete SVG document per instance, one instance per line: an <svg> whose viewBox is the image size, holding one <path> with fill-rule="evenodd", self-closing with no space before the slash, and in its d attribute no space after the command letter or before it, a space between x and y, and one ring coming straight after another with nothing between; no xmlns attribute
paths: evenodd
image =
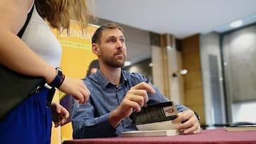
<svg viewBox="0 0 256 144"><path fill-rule="evenodd" d="M100 40L100 57L102 62L110 67L122 67L127 55L125 38L119 29L109 29L102 31Z"/></svg>

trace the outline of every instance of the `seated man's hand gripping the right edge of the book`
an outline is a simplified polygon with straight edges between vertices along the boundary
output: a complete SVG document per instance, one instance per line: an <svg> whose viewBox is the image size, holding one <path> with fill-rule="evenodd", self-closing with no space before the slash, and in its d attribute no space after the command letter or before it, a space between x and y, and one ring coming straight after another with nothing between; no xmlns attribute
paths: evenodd
<svg viewBox="0 0 256 144"><path fill-rule="evenodd" d="M182 111L181 113L178 113L178 118L175 118L172 123L181 123L176 128L177 130L184 130L184 134L190 134L190 133L200 133L201 131L201 125L198 121L198 118L196 117L196 114L192 110L188 111Z"/></svg>

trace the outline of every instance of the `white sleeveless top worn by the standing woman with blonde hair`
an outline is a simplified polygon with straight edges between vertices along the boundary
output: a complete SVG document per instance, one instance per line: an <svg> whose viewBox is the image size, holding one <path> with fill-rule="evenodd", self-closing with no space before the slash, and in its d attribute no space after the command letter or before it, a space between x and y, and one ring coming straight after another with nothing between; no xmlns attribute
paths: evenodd
<svg viewBox="0 0 256 144"><path fill-rule="evenodd" d="M33 8L31 19L21 39L33 52L36 52L36 55L48 62L48 64L53 67L60 66L61 45L46 21L39 16L36 11L36 5Z"/></svg>

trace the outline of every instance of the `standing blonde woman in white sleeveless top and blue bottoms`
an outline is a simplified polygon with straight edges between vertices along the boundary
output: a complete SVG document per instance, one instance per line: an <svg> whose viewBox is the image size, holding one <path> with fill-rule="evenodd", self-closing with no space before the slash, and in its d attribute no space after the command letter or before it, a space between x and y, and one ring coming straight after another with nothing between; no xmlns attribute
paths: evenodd
<svg viewBox="0 0 256 144"><path fill-rule="evenodd" d="M18 38L30 11L28 26ZM1 0L0 64L21 74L45 77L48 85L83 104L90 92L82 80L65 77L65 72L56 68L62 49L50 27L68 30L73 19L85 28L92 18L86 0ZM69 113L60 104L47 104L48 92L43 87L38 94L28 96L0 121L0 143L50 143L51 121L59 126Z"/></svg>

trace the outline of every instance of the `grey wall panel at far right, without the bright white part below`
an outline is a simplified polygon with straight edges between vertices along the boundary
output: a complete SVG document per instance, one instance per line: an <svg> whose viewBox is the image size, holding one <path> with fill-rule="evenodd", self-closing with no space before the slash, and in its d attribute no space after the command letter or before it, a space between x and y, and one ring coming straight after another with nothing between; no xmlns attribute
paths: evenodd
<svg viewBox="0 0 256 144"><path fill-rule="evenodd" d="M227 92L233 102L256 101L256 25L223 35Z"/></svg>

